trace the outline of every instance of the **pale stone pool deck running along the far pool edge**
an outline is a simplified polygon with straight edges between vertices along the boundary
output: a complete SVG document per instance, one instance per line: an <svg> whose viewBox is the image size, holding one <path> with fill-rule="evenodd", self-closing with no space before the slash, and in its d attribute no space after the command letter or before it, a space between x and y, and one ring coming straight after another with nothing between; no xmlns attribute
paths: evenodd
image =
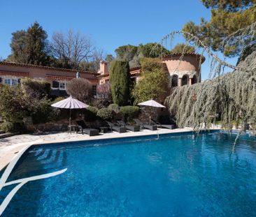
<svg viewBox="0 0 256 217"><path fill-rule="evenodd" d="M213 128L218 129L218 128ZM143 135L161 135L166 133L186 133L192 132L192 128L177 128L173 130L169 129L158 129L155 131L152 130L141 130L139 132L130 132L127 133L100 133L100 135L92 136L82 135L76 133L48 133L45 135L31 135L31 134L22 134L14 135L12 137L6 137L0 139L0 170L2 170L10 160L12 160L24 147L27 147L28 144L49 144L49 143L59 143L59 142L76 142L76 141L88 141L88 140L102 140L102 139L113 139L113 138L122 138L122 137L134 137L134 136L143 136Z"/></svg>

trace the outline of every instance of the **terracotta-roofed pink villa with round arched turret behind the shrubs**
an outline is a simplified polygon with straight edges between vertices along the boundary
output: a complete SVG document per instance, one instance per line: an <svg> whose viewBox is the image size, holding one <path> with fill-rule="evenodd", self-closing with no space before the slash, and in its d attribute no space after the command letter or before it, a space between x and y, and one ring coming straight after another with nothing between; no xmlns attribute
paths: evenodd
<svg viewBox="0 0 256 217"><path fill-rule="evenodd" d="M191 85L201 82L200 63L204 63L205 58L194 53L183 54L182 59L180 59L181 56L182 54L172 54L162 58L164 67L169 73L171 87L181 87L186 84ZM66 96L66 84L76 78L76 73L78 73L78 70L7 61L0 62L0 84L16 85L22 77L46 80L51 84L51 94L53 96ZM97 73L84 70L79 70L79 73L80 77L92 83L94 96L97 96L97 85L109 81L108 63L106 61L101 61ZM137 82L141 75L141 68L131 68L130 74L131 80Z"/></svg>

